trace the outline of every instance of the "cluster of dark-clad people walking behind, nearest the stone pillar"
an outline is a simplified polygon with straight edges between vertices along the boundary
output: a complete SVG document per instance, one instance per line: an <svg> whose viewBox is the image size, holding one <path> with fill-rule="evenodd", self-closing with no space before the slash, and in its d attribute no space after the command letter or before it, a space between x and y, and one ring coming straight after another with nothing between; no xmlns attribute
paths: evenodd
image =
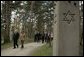
<svg viewBox="0 0 84 57"><path fill-rule="evenodd" d="M52 39L53 39L53 37L51 36L50 33L44 33L44 32L42 34L37 32L34 37L35 42L42 41L42 43L44 43L44 42L50 43L52 41Z"/></svg>

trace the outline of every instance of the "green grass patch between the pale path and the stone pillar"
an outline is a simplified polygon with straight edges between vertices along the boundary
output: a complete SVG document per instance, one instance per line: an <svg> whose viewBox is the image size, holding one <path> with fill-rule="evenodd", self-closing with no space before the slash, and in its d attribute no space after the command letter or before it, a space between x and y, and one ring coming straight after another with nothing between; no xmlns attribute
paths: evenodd
<svg viewBox="0 0 84 57"><path fill-rule="evenodd" d="M52 56L52 47L48 44L43 45L32 53L32 56Z"/></svg>

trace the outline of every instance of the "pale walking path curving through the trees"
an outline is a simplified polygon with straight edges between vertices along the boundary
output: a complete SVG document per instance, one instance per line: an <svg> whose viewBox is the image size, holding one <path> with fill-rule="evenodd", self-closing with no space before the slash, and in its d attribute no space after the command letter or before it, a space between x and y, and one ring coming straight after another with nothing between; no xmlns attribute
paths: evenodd
<svg viewBox="0 0 84 57"><path fill-rule="evenodd" d="M45 45L45 43L42 44L41 42L33 42L25 44L23 49L21 49L20 46L16 49L10 47L8 49L1 50L1 56L31 56L30 54L32 53L32 51L43 45Z"/></svg>

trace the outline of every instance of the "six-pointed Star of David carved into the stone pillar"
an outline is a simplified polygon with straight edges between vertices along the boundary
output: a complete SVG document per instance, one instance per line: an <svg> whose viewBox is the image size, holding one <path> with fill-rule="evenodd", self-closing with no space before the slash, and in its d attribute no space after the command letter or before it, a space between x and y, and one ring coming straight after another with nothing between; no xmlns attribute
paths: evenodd
<svg viewBox="0 0 84 57"><path fill-rule="evenodd" d="M63 15L64 15L64 18L63 18L62 21L66 21L68 24L70 24L71 21L74 21L74 15L75 14L72 14L70 12L70 10L68 12L66 12L66 13L63 13Z"/></svg>

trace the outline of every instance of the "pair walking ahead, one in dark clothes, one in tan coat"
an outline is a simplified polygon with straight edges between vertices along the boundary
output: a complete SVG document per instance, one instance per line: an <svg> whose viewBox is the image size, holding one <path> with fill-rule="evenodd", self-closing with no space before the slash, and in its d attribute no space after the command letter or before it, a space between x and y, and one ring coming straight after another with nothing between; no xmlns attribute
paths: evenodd
<svg viewBox="0 0 84 57"><path fill-rule="evenodd" d="M22 30L21 33L18 32L18 30L16 29L15 31L13 31L13 49L15 49L16 47L18 48L18 41L20 39L21 42L21 48L24 48L24 39L25 39L25 33Z"/></svg>

